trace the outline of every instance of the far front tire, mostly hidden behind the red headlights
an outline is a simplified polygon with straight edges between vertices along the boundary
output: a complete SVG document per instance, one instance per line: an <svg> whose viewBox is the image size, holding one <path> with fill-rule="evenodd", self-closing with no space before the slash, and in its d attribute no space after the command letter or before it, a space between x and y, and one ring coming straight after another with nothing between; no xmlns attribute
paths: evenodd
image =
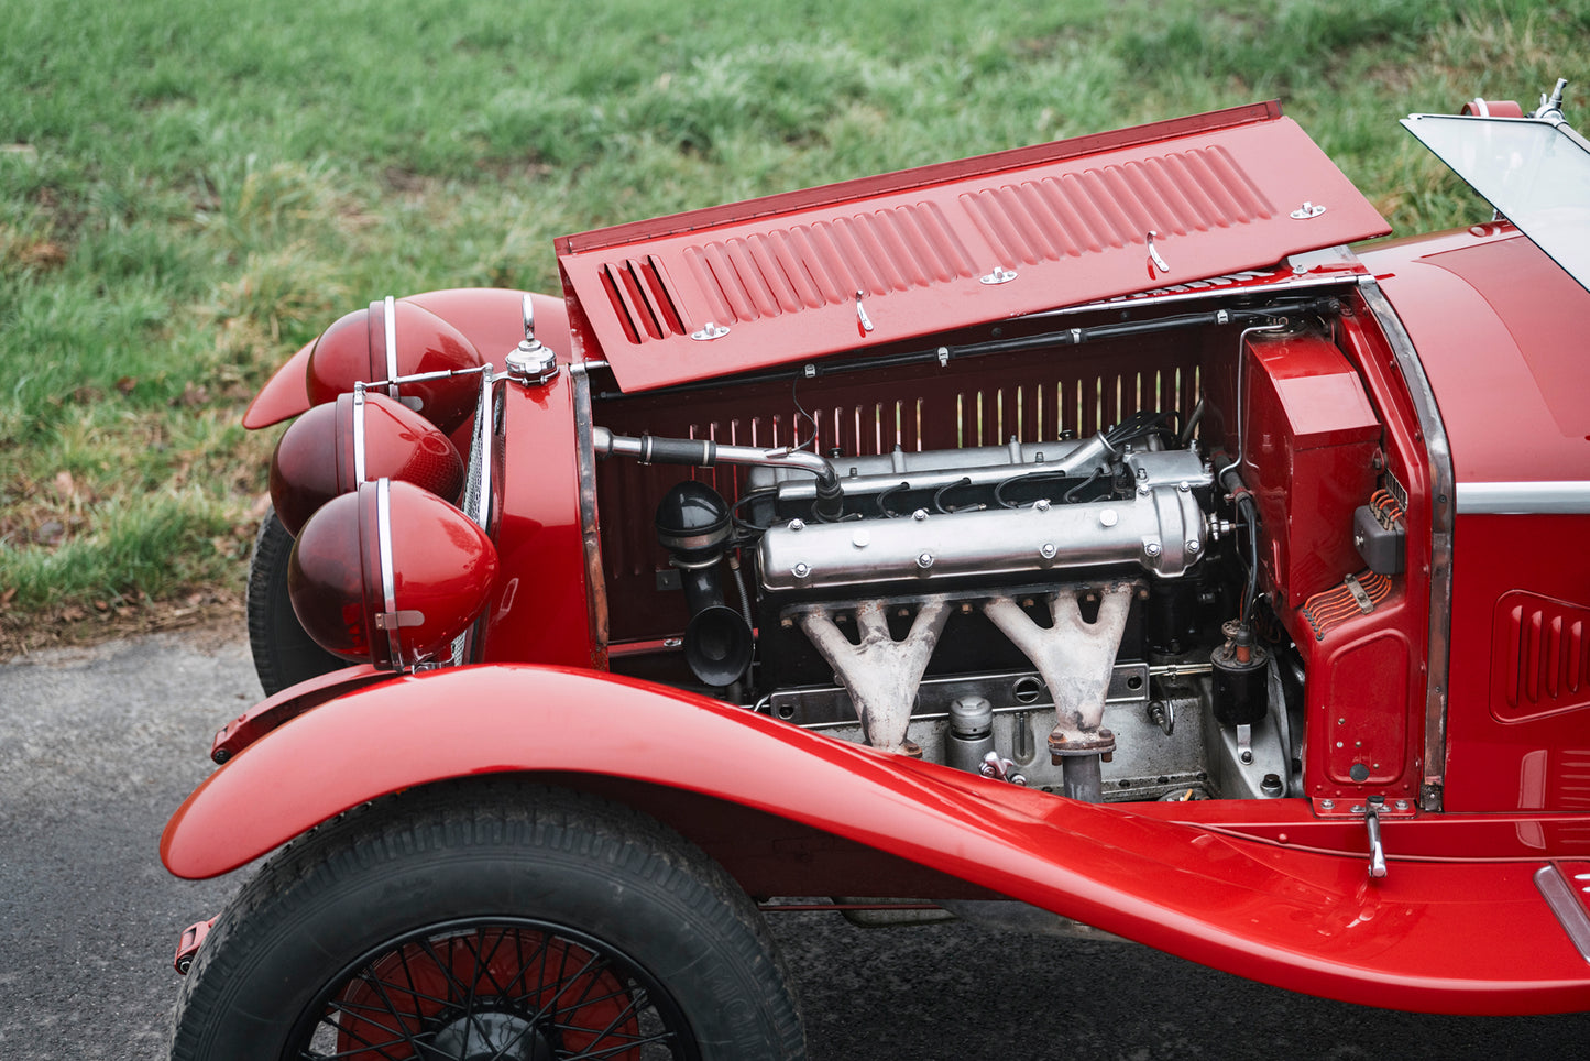
<svg viewBox="0 0 1590 1061"><path fill-rule="evenodd" d="M248 612L248 647L254 654L254 673L259 674L259 684L267 697L308 678L348 667L348 660L315 644L293 612L293 601L288 598L291 555L293 534L272 509L266 512L254 536L254 554L248 558L248 597L243 604Z"/></svg>

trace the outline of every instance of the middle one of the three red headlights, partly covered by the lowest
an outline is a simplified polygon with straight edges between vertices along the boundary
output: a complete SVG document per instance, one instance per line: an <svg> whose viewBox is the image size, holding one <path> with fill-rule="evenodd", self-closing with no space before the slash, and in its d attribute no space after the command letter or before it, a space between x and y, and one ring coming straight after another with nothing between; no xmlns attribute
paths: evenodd
<svg viewBox="0 0 1590 1061"><path fill-rule="evenodd" d="M270 501L294 536L320 506L369 479L401 479L458 501L464 461L425 417L370 391L315 406L270 457Z"/></svg>

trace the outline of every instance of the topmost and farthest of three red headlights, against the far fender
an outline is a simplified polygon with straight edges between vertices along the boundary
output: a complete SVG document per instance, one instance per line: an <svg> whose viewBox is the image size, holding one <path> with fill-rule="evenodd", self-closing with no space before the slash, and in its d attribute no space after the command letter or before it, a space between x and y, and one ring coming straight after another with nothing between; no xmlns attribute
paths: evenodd
<svg viewBox="0 0 1590 1061"><path fill-rule="evenodd" d="M399 375L474 369L485 364L474 344L436 313L413 302L386 299L342 317L315 340L304 385L312 406L332 401L355 383L385 383ZM475 409L472 375L402 383L404 404L452 434Z"/></svg>

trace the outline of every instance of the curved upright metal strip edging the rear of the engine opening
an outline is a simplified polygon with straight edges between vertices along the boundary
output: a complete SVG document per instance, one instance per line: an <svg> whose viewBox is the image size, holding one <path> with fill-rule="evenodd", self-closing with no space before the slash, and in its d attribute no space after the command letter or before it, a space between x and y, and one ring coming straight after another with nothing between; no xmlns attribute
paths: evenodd
<svg viewBox="0 0 1590 1061"><path fill-rule="evenodd" d="M1429 455L1429 647L1418 805L1426 811L1439 811L1447 762L1447 681L1452 674L1452 525L1456 515L1452 447L1447 444L1447 428L1441 423L1436 391L1414 352L1414 340L1404 331L1385 291L1372 280L1358 290L1386 342L1391 344L1391 356L1414 401L1418 429L1425 436L1425 452Z"/></svg>

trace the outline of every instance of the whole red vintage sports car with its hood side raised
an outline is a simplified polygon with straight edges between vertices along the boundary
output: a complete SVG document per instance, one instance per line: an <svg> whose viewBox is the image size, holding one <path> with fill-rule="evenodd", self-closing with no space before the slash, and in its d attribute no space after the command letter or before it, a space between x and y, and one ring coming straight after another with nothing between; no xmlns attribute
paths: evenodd
<svg viewBox="0 0 1590 1061"><path fill-rule="evenodd" d="M1274 103L569 235L245 423L270 698L161 846L173 1058L797 1058L763 913L1053 911L1590 1010L1590 145ZM283 846L286 845L286 846Z"/></svg>

